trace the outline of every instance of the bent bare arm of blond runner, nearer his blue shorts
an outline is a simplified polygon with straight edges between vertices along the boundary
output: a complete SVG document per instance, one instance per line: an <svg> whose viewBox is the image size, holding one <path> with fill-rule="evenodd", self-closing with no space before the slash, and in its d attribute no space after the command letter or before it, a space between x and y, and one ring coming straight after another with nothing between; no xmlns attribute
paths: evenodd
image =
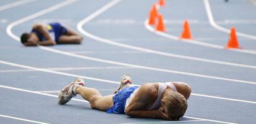
<svg viewBox="0 0 256 124"><path fill-rule="evenodd" d="M169 119L168 115L164 114L161 107L156 110L146 110L157 98L157 89L158 85L156 85L156 83L146 83L142 85L137 95L134 96L132 102L127 106L126 114L130 117Z"/></svg>

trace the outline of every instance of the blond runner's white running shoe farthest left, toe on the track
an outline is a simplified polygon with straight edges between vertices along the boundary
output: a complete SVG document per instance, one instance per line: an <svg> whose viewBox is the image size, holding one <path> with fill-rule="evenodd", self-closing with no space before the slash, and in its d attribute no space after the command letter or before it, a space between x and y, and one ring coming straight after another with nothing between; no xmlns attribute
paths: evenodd
<svg viewBox="0 0 256 124"><path fill-rule="evenodd" d="M75 93L75 89L77 88L78 85L81 85L81 86L85 85L82 78L75 79L72 83L70 83L69 85L67 85L61 90L61 93L59 93L59 97L58 97L58 103L66 104L67 102L70 101L72 97L76 96L77 93Z"/></svg>

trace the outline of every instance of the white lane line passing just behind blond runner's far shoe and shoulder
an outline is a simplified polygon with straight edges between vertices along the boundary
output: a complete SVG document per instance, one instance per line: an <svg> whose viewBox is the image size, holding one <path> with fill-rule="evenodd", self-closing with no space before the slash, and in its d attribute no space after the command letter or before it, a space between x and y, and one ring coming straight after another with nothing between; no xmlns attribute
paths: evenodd
<svg viewBox="0 0 256 124"><path fill-rule="evenodd" d="M22 64L10 63L8 61L0 60L0 63L7 64L9 66L19 67L19 68L33 69L33 70L41 71L41 72L48 72L48 73L52 73L52 74L59 74L59 75L62 75L62 76L82 77L83 79L88 79L88 80L96 80L96 81L100 81L100 82L120 84L120 82L113 81L113 80L105 80L105 79L98 79L98 78L94 78L94 77L80 76L80 75L76 75L76 74L69 74L69 73L58 72L58 71L50 71L50 70L47 70L47 69L35 68L35 67L32 67L32 66L25 66L25 65L22 65ZM206 98L223 99L223 100L227 100L227 101L236 101L236 102L242 102L242 103L256 104L255 101L245 101L245 100L240 100L240 99L220 98L220 97L209 96L209 95L200 95L200 94L196 94L196 93L192 93L191 95L202 96L202 97L206 97Z"/></svg>

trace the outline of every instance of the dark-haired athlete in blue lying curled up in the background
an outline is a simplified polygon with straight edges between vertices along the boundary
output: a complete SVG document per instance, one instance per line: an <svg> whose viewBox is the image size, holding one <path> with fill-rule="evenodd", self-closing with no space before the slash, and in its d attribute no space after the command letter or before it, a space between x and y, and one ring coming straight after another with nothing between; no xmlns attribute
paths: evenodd
<svg viewBox="0 0 256 124"><path fill-rule="evenodd" d="M80 44L83 37L61 23L36 23L30 33L23 33L20 41L25 46Z"/></svg>

